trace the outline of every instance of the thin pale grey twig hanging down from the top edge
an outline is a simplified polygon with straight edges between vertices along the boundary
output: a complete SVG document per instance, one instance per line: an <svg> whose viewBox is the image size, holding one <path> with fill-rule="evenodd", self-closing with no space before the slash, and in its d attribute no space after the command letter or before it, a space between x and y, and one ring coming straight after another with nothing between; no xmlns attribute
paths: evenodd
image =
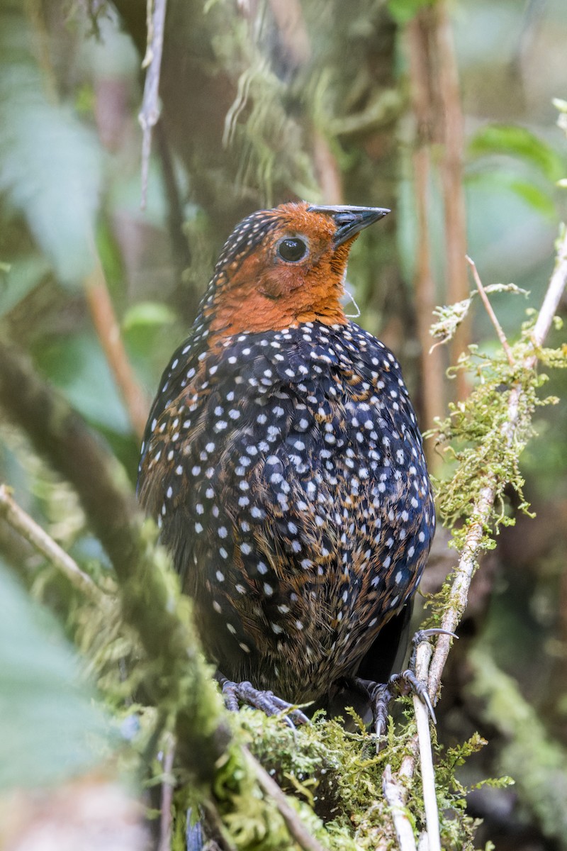
<svg viewBox="0 0 567 851"><path fill-rule="evenodd" d="M144 98L138 120L142 128L142 203L145 209L150 172L151 131L160 117L158 103L160 74L162 72L163 28L166 20L167 0L148 0L148 46L142 67L145 74Z"/></svg>

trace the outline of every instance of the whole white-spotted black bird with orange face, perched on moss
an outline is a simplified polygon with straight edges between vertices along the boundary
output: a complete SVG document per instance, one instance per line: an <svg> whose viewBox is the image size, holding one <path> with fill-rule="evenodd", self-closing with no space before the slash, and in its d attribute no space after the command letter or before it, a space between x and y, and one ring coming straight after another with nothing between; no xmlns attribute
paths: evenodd
<svg viewBox="0 0 567 851"><path fill-rule="evenodd" d="M242 220L151 408L139 500L230 709L303 721L352 687L381 717L435 527L400 364L343 307L350 248L389 212Z"/></svg>

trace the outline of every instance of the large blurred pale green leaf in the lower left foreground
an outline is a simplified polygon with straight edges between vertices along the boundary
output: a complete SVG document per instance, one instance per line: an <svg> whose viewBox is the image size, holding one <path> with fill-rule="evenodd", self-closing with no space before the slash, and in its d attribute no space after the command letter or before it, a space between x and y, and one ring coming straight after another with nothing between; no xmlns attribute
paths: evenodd
<svg viewBox="0 0 567 851"><path fill-rule="evenodd" d="M0 563L0 790L82 773L115 735L59 625Z"/></svg>

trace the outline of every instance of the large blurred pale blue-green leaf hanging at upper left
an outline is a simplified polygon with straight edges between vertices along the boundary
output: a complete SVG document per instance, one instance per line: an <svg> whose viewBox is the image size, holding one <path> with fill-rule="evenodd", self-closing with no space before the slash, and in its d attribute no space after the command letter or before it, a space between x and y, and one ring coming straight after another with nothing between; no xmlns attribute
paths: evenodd
<svg viewBox="0 0 567 851"><path fill-rule="evenodd" d="M94 263L100 149L69 108L48 98L24 9L0 6L0 192L61 283L78 286Z"/></svg>

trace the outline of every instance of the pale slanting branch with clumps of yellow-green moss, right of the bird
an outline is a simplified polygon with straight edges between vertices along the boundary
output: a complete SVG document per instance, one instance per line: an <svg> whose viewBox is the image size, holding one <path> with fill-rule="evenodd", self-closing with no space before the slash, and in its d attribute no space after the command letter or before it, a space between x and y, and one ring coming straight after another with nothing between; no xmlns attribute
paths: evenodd
<svg viewBox="0 0 567 851"><path fill-rule="evenodd" d="M450 439L462 443L460 449L451 446L459 463L451 482L441 486L439 500L445 523L452 526L457 520L462 521L462 526L454 530L452 541L459 560L450 584L437 601L439 625L446 631L456 631L479 558L493 545L493 535L504 522L497 507L503 489L513 483L521 493L523 482L517 464L531 434L531 414L538 404L536 388L541 385L536 373L538 357L566 285L567 233L563 229L553 275L536 323L524 328L522 340L512 350L502 350L499 361L480 362L478 386L466 402L453 407L449 420L439 424L438 437L444 443ZM465 363L469 362L462 365ZM417 675L427 682L434 704L450 648L451 637L440 635L431 660L424 660L417 670ZM408 746L411 754L416 755L417 733L411 736ZM404 768L405 781L411 779L416 767L416 757L409 757Z"/></svg>

